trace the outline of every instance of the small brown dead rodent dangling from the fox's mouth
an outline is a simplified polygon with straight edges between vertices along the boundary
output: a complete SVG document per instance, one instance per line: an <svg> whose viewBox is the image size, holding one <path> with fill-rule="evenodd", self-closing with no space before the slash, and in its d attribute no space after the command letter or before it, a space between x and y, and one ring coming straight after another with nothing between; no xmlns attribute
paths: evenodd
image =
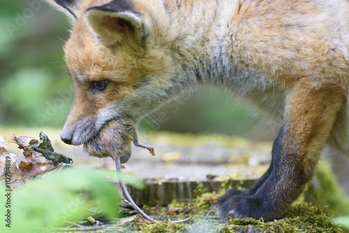
<svg viewBox="0 0 349 233"><path fill-rule="evenodd" d="M84 151L98 158L120 158L121 163L127 163L131 158L131 142L135 146L148 149L155 156L154 147L138 142L135 124L129 117L117 117L105 123L99 133L84 143Z"/></svg>

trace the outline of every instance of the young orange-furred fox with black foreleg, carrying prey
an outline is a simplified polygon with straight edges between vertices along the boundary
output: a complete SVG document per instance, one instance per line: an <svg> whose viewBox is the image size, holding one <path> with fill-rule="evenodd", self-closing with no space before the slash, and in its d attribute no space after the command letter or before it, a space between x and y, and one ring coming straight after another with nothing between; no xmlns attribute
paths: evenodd
<svg viewBox="0 0 349 233"><path fill-rule="evenodd" d="M325 146L349 154L349 1L52 3L73 24L64 47L75 88L67 144L88 142L111 119L138 123L198 84L225 87L281 129L267 172L218 201L223 219L278 218Z"/></svg>

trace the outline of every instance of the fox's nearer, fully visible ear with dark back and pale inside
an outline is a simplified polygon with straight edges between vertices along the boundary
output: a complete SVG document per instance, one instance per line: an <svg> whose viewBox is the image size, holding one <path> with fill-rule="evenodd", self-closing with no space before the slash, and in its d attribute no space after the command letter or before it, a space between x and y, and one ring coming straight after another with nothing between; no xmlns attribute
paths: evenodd
<svg viewBox="0 0 349 233"><path fill-rule="evenodd" d="M119 43L128 36L142 44L150 33L149 24L127 0L91 7L87 9L86 17L91 29L106 45Z"/></svg>

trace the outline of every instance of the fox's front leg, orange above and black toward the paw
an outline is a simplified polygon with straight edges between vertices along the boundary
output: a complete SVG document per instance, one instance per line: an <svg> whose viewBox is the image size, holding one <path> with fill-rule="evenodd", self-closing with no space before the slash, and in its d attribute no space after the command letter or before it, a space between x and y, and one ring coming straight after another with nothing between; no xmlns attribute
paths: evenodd
<svg viewBox="0 0 349 233"><path fill-rule="evenodd" d="M272 163L244 192L228 190L218 201L221 218L278 218L311 179L346 91L336 82L299 80L285 103L285 117L274 142Z"/></svg>

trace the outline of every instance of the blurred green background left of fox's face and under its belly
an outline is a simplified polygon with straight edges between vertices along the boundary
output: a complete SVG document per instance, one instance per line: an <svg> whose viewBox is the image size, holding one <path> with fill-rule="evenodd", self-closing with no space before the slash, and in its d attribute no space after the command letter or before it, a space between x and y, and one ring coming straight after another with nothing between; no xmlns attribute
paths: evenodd
<svg viewBox="0 0 349 233"><path fill-rule="evenodd" d="M44 1L4 0L0 27L0 124L63 127L73 102L62 50L68 20ZM252 138L262 132L231 93L203 88L189 96L150 114L139 129Z"/></svg>

